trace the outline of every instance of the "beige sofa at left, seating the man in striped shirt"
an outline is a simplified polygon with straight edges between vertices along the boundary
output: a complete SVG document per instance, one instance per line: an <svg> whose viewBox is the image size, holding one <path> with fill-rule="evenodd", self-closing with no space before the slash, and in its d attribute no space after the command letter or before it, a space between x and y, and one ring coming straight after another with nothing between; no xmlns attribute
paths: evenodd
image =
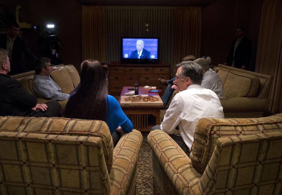
<svg viewBox="0 0 282 195"><path fill-rule="evenodd" d="M80 76L78 74L78 71L73 65L61 65L61 66L59 65L57 67L59 69L52 71L51 77L61 88L63 93L70 94L80 82ZM25 91L36 96L38 100L38 104L46 103L47 101L50 101L50 99L37 96L33 91L32 83L33 83L34 73L35 71L16 74L16 75L12 75L11 78L18 80ZM68 100L63 100L58 102L61 104L62 111L64 114Z"/></svg>

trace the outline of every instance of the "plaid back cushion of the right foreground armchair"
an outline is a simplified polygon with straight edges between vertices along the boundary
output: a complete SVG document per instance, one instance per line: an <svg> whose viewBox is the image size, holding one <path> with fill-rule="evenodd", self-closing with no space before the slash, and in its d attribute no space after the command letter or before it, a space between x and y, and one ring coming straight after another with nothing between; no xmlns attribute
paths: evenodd
<svg viewBox="0 0 282 195"><path fill-rule="evenodd" d="M202 118L196 125L190 159L201 174L214 151L220 137L242 136L281 131L282 114L249 119Z"/></svg>

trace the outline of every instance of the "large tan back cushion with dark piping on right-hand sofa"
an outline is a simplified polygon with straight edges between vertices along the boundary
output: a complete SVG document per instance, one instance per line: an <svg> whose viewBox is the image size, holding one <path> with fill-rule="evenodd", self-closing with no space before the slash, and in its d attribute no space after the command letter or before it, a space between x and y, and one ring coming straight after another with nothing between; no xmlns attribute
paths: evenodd
<svg viewBox="0 0 282 195"><path fill-rule="evenodd" d="M259 78L251 74L229 71L224 82L224 93L229 97L254 97L259 89Z"/></svg>

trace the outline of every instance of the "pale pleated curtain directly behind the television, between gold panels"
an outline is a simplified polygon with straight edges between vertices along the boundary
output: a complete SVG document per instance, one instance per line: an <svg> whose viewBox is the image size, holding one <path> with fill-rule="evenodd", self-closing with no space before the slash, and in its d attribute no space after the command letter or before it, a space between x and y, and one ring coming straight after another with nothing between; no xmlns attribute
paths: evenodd
<svg viewBox="0 0 282 195"><path fill-rule="evenodd" d="M120 38L123 36L160 37L159 60L172 63L172 7L106 6L107 62L120 61Z"/></svg>

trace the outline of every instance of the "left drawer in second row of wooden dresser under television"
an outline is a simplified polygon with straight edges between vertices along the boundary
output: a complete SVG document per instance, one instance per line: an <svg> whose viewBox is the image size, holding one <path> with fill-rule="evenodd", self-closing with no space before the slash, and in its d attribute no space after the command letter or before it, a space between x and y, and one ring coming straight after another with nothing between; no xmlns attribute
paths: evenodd
<svg viewBox="0 0 282 195"><path fill-rule="evenodd" d="M134 85L135 81L139 82L139 74L118 73L109 75L110 85L114 83L130 83Z"/></svg>

